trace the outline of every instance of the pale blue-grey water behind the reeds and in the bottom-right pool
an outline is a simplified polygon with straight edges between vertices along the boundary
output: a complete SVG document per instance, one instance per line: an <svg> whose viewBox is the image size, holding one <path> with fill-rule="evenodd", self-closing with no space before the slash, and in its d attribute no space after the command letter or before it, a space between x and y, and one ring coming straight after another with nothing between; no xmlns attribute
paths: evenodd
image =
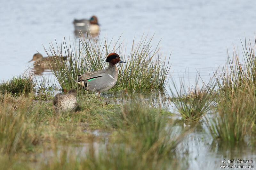
<svg viewBox="0 0 256 170"><path fill-rule="evenodd" d="M136 41L144 32L155 33L155 45L162 39L161 52L172 52L174 80L182 76L193 84L199 72L207 81L212 70L227 62L227 49L231 55L234 46L241 52L240 39L254 38L255 11L253 0L1 1L0 78L22 74L34 53L46 56L43 45L49 49L50 42L60 43L64 37L75 41L73 19L96 15L99 39L117 39L123 33L129 46L135 35ZM216 169L222 159L256 160L249 147L222 149L210 139L202 141L206 134L191 133L182 147L189 153L190 169Z"/></svg>

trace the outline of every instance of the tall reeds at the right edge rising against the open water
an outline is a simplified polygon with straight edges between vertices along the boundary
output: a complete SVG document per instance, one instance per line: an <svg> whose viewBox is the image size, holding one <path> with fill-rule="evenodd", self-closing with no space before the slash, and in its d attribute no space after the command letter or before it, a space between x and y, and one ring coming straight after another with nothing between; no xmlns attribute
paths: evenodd
<svg viewBox="0 0 256 170"><path fill-rule="evenodd" d="M222 71L216 75L216 81L220 92L229 95L230 91L236 92L236 90L247 89L251 87L255 89L256 87L256 37L255 43L252 44L251 41L243 44L243 59L244 61L239 61L238 52L234 50L233 58L228 56L228 66L222 67ZM246 86L246 84L250 86ZM256 94L256 90L255 94Z"/></svg>

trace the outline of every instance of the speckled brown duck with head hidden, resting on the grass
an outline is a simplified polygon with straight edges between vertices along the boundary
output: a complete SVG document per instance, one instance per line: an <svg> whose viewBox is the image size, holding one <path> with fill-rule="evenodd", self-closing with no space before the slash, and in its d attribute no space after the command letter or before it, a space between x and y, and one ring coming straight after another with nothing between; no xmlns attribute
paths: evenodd
<svg viewBox="0 0 256 170"><path fill-rule="evenodd" d="M71 89L67 94L58 93L54 96L53 106L57 113L60 111L68 112L76 110L78 107L76 101L76 89Z"/></svg>

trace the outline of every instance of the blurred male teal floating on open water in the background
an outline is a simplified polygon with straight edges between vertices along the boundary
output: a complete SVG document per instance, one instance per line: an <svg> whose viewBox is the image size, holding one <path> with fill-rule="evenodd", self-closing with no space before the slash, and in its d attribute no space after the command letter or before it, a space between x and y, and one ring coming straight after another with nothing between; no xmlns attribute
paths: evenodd
<svg viewBox="0 0 256 170"><path fill-rule="evenodd" d="M88 19L75 19L73 21L75 32L81 31L88 32L91 34L98 34L100 31L100 26L98 24L98 19L96 16L92 16L89 20Z"/></svg>

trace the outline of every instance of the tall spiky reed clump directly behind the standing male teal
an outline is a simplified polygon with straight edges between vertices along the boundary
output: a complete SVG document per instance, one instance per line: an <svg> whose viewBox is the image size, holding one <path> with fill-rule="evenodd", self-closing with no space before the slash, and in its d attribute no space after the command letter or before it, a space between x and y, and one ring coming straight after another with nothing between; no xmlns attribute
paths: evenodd
<svg viewBox="0 0 256 170"><path fill-rule="evenodd" d="M162 89L166 86L168 72L170 70L170 57L163 59L159 52L159 43L156 48L152 47L153 37L142 36L137 44L133 41L131 51L125 51L123 42L119 39L111 44L113 39L108 41L97 41L90 38L81 37L79 44L66 43L65 39L59 48L51 45L48 55L55 56L54 62L58 69L53 69L52 73L60 83L62 89L76 88L78 74L106 69L105 63L109 53L118 53L121 60L127 64L117 64L119 77L113 89ZM56 56L68 56L67 62L63 65Z"/></svg>

